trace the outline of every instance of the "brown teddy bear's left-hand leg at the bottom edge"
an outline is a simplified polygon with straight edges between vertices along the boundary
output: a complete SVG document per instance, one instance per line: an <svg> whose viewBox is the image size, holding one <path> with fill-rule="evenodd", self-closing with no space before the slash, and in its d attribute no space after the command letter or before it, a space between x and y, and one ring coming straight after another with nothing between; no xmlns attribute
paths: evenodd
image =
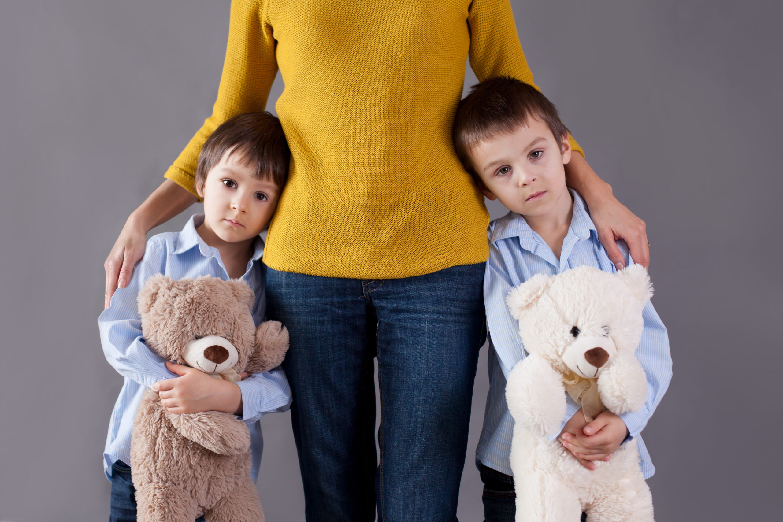
<svg viewBox="0 0 783 522"><path fill-rule="evenodd" d="M182 488L164 482L148 482L136 488L138 522L193 522L196 501Z"/></svg>

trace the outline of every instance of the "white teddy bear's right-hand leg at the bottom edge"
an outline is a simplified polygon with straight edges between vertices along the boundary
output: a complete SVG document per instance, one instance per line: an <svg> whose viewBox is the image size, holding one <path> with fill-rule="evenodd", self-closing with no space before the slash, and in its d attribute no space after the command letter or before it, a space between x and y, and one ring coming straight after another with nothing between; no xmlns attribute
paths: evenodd
<svg viewBox="0 0 783 522"><path fill-rule="evenodd" d="M615 484L586 513L587 522L655 522L652 495L641 473Z"/></svg>

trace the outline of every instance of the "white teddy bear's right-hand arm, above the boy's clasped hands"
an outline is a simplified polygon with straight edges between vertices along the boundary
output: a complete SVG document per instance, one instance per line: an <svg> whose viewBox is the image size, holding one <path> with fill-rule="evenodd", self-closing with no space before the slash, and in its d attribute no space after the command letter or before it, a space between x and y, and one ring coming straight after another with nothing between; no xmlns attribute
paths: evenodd
<svg viewBox="0 0 783 522"><path fill-rule="evenodd" d="M622 351L598 376L598 393L616 415L635 412L647 400L647 374L632 353Z"/></svg>

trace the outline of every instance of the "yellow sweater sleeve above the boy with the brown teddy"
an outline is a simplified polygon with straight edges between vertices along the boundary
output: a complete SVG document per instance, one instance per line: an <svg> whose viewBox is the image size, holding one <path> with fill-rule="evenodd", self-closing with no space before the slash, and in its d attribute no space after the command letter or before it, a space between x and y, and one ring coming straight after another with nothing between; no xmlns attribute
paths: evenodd
<svg viewBox="0 0 783 522"><path fill-rule="evenodd" d="M232 0L229 43L212 115L204 121L165 177L198 197L193 187L198 154L218 125L237 114L262 111L277 74L275 39L266 18L267 0Z"/></svg>

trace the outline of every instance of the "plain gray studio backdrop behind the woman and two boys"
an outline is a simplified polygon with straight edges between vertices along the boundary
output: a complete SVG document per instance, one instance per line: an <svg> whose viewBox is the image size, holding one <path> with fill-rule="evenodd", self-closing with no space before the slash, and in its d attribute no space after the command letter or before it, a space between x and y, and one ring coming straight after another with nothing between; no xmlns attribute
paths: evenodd
<svg viewBox="0 0 783 522"><path fill-rule="evenodd" d="M779 520L781 4L512 3L536 82L648 224L674 359L644 431L658 520ZM108 516L103 260L210 113L228 19L229 0L0 2L0 520ZM262 424L268 520L303 520L289 415Z"/></svg>

